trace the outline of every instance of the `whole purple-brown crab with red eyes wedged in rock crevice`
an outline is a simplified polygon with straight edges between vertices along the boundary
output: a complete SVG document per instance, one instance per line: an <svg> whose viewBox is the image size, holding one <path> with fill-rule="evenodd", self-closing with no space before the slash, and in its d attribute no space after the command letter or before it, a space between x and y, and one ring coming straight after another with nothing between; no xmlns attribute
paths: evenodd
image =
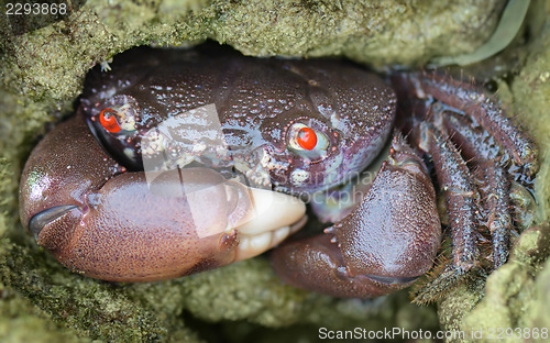
<svg viewBox="0 0 550 343"><path fill-rule="evenodd" d="M393 84L399 97L337 60L125 53L112 71L90 74L77 115L31 154L21 220L62 264L99 279L174 278L278 245L271 259L286 283L369 298L432 267L442 241L435 174L451 232L451 261L427 287L437 295L506 261L508 189L534 178L537 151L471 85L422 74ZM358 175L388 141L365 184ZM314 192L359 197L321 209L333 222L323 234L283 242Z"/></svg>

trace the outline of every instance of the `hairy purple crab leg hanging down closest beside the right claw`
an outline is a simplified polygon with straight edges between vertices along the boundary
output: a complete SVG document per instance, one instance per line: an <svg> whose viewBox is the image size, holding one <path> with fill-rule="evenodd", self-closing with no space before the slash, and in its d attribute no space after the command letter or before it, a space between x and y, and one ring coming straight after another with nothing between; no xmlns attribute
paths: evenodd
<svg viewBox="0 0 550 343"><path fill-rule="evenodd" d="M453 142L461 147L462 154L477 167L482 176L479 188L482 203L487 214L486 225L493 245L493 267L496 269L508 258L510 232L514 230L509 214L509 181L507 173L496 165L499 147L485 144L484 136L468 125L462 118L441 113L442 126L452 135Z"/></svg>

